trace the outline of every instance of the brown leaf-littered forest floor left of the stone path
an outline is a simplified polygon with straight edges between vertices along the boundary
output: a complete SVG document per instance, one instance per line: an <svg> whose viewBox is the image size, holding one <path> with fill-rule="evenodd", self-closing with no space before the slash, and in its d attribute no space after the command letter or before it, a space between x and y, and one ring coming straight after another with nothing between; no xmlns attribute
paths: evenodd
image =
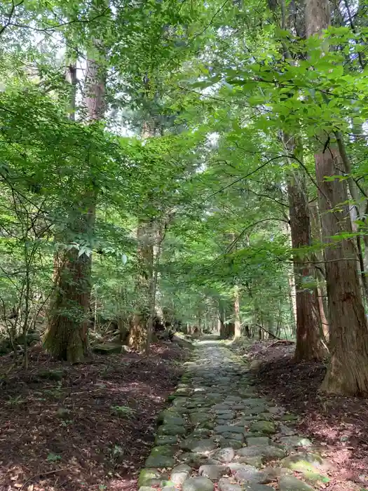
<svg viewBox="0 0 368 491"><path fill-rule="evenodd" d="M188 354L161 342L149 358L69 365L34 347L28 372L0 377L0 491L136 490L158 412ZM2 357L2 373L13 363Z"/></svg>

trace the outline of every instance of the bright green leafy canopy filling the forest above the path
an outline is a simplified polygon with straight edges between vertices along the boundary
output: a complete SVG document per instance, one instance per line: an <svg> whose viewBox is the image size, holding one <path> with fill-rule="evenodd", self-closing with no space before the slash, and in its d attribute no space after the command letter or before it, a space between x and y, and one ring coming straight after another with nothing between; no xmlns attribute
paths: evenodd
<svg viewBox="0 0 368 491"><path fill-rule="evenodd" d="M315 199L315 134L325 135L326 151L343 135L353 174L327 180L353 177L360 206L367 201L364 19L304 39L299 25L280 29L253 1L13 6L0 6L2 332L45 328L55 253L66 250L93 257L97 323L128 324L147 300L137 228L154 222L163 240L149 273L171 319L213 328L221 310L231 322L238 290L243 325L292 334L292 257L325 245L315 234L310 247L292 250L286 183L304 173ZM88 57L106 74L107 111L87 125ZM75 121L64 80L73 62ZM303 155L287 152L281 133L299 139ZM95 223L83 229L90 196ZM366 215L334 243L364 234Z"/></svg>

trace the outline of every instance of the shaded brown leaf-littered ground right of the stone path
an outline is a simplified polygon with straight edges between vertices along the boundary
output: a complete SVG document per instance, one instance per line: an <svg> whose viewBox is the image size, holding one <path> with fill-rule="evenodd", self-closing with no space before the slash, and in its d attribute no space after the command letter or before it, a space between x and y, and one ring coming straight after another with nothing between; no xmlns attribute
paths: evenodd
<svg viewBox="0 0 368 491"><path fill-rule="evenodd" d="M368 488L368 400L320 392L325 363L294 363L294 344L274 340L235 348L253 363L259 394L299 417L297 429L325 447L338 469L328 490Z"/></svg>

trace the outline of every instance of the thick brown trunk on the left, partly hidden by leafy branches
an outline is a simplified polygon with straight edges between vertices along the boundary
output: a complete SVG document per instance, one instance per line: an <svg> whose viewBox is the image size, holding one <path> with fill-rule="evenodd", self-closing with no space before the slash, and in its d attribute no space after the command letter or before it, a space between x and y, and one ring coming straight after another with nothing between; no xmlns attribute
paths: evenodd
<svg viewBox="0 0 368 491"><path fill-rule="evenodd" d="M76 70L71 65L67 72L67 79L72 85L69 119L74 119L75 114L75 77ZM95 60L87 60L83 106L89 124L104 116L104 76ZM92 235L96 201L97 189L93 179L88 177L79 203L71 210L69 230L63 237L64 243L74 242L76 236ZM44 343L53 356L76 363L88 354L91 251L82 254L76 248L57 251L54 264L54 293Z"/></svg>

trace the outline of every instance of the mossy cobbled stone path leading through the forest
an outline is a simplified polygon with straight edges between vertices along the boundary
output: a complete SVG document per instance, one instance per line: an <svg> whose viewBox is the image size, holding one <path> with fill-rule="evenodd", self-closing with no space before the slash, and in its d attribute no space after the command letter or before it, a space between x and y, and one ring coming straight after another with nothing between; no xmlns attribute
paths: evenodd
<svg viewBox="0 0 368 491"><path fill-rule="evenodd" d="M198 342L171 398L139 491L312 491L328 482L329 464L296 434L295 417L257 396L247 366L221 342Z"/></svg>

